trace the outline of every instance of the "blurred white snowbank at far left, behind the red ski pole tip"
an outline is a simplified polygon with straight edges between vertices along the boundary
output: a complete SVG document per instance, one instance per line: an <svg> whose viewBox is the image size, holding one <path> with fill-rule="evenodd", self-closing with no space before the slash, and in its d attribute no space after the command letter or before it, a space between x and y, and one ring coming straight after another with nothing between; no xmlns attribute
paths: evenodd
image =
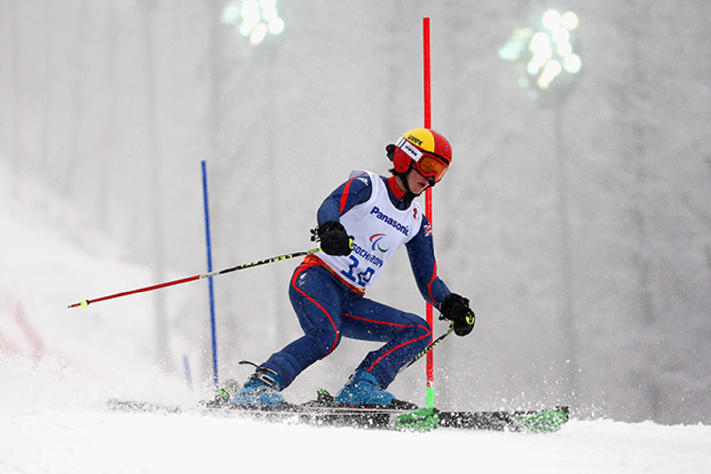
<svg viewBox="0 0 711 474"><path fill-rule="evenodd" d="M23 387L42 387L47 377L55 377L69 384L59 390L68 399L93 397L98 387L130 395L134 381L144 377L159 377L159 387L170 384L172 377L155 373L151 359L150 298L126 298L91 311L67 308L82 296L149 284L149 271L118 262L111 242L92 235L80 216L75 229L54 230L53 216L68 208L31 180L10 181L4 171L0 352L11 361L3 364L3 372L24 373ZM18 394L8 384L3 387L0 402L14 406ZM55 398L44 390L36 396Z"/></svg>

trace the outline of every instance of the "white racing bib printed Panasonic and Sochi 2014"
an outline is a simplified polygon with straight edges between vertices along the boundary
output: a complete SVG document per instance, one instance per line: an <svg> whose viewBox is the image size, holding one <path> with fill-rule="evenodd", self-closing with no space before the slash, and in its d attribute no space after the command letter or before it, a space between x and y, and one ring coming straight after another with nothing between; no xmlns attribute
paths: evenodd
<svg viewBox="0 0 711 474"><path fill-rule="evenodd" d="M407 210L395 208L387 195L385 183L371 171L351 171L348 179L370 177L373 192L365 203L341 215L341 224L353 235L353 250L347 257L333 257L326 252L316 255L348 284L363 289L375 283L393 254L410 242L422 225L422 210L413 202Z"/></svg>

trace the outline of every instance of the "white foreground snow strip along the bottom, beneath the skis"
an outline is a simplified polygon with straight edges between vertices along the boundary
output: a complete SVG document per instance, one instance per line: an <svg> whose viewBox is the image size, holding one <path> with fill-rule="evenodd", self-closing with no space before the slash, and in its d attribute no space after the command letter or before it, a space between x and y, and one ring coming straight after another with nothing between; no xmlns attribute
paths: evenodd
<svg viewBox="0 0 711 474"><path fill-rule="evenodd" d="M3 473L195 473L242 468L505 473L708 473L710 426L571 421L548 435L395 433L193 415L46 407L0 412ZM298 472L298 471L296 471Z"/></svg>

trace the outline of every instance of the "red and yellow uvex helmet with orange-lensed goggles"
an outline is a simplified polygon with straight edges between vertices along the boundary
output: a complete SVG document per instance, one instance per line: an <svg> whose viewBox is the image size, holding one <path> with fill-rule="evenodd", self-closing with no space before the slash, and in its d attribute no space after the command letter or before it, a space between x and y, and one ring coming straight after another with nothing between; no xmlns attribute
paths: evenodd
<svg viewBox="0 0 711 474"><path fill-rule="evenodd" d="M425 178L439 183L451 163L451 145L444 135L432 129L408 131L395 144L392 164L396 173L406 173L415 166Z"/></svg>

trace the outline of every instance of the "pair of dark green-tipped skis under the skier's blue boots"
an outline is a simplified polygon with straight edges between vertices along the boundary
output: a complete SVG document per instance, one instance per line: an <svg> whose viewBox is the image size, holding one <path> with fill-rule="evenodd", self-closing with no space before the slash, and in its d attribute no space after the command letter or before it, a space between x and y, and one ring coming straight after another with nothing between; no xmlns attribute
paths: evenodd
<svg viewBox="0 0 711 474"><path fill-rule="evenodd" d="M397 431L432 431L433 429L475 429L552 433L562 429L569 419L567 406L528 411L441 411L438 409L355 408L307 402L282 404L277 409L242 409L205 402L196 408L181 409L130 400L110 399L109 409L124 412L161 414L198 413L210 416L234 416L284 424L336 426Z"/></svg>

